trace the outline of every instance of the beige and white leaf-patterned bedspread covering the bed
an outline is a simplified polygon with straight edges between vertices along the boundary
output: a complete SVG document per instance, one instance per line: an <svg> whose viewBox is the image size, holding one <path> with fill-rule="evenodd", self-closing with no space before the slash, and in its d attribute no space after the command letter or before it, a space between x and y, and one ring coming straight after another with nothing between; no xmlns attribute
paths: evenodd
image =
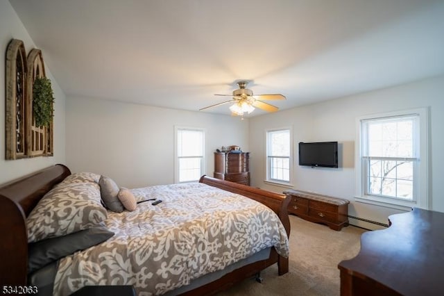
<svg viewBox="0 0 444 296"><path fill-rule="evenodd" d="M288 238L271 209L203 183L133 189L136 211L108 213L115 235L60 260L54 295L87 285L133 285L161 295L274 246L287 257Z"/></svg>

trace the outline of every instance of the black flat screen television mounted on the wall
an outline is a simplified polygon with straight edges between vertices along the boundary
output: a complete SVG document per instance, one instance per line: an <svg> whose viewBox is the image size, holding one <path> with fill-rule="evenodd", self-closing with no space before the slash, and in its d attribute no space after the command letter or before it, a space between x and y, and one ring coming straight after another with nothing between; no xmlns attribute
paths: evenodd
<svg viewBox="0 0 444 296"><path fill-rule="evenodd" d="M338 167L338 142L300 142L299 165Z"/></svg>

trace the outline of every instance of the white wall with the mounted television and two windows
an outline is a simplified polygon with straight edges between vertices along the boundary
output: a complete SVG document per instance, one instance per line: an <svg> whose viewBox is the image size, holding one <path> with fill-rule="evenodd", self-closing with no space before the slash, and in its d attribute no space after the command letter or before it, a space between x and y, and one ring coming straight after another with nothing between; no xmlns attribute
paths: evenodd
<svg viewBox="0 0 444 296"><path fill-rule="evenodd" d="M250 151L253 186L282 192L265 180L265 130L293 126L293 188L350 199L349 215L387 223L388 215L402 211L354 202L356 117L418 107L429 107L429 158L432 210L444 212L441 183L444 180L444 76L344 97L321 104L284 110L250 119ZM302 167L298 163L298 142L339 142L339 168ZM352 224L375 229L373 224L350 220Z"/></svg>

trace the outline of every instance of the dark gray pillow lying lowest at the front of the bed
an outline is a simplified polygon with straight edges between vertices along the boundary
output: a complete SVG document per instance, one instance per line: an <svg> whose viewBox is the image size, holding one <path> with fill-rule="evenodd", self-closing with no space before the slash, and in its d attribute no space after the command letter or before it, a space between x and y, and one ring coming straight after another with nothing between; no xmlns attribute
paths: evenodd
<svg viewBox="0 0 444 296"><path fill-rule="evenodd" d="M105 227L94 227L28 244L28 273L43 268L60 258L98 245L114 236Z"/></svg>

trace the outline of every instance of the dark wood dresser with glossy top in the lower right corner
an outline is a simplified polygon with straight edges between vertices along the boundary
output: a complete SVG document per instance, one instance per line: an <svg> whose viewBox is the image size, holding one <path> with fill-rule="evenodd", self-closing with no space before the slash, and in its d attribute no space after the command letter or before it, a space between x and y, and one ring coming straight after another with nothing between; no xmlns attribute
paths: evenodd
<svg viewBox="0 0 444 296"><path fill-rule="evenodd" d="M339 263L341 295L443 295L444 213L413 208L388 229L361 236L355 258Z"/></svg>

